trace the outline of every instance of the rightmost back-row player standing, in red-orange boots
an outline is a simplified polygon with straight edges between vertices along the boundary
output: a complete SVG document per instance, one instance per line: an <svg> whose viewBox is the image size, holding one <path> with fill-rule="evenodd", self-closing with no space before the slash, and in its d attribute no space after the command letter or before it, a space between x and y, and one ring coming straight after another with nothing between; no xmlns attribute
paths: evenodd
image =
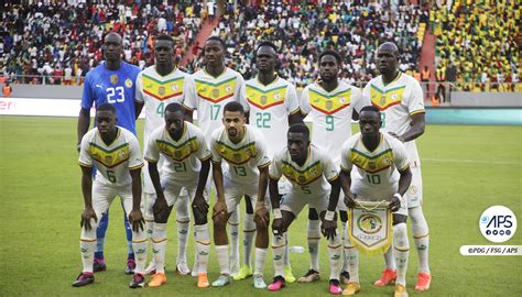
<svg viewBox="0 0 522 297"><path fill-rule="evenodd" d="M432 282L428 265L428 228L422 211L422 177L415 139L424 133L424 97L418 81L399 72L399 48L391 42L383 43L377 52L377 65L380 76L365 87L363 94L379 108L382 129L404 143L412 184L405 194L407 211L412 219L412 233L418 254L418 279L416 290L427 290ZM387 268L376 286L385 286L395 279L395 261L392 249L384 255Z"/></svg>

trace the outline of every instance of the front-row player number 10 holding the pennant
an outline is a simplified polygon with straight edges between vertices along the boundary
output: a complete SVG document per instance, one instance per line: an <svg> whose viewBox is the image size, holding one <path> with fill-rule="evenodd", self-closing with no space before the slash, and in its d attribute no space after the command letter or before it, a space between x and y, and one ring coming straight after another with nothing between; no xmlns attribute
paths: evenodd
<svg viewBox="0 0 522 297"><path fill-rule="evenodd" d="M390 201L389 208L393 211L393 248L399 263L394 296L402 297L407 296L406 268L410 254L407 206L402 197L410 187L412 173L404 144L379 132L380 117L378 108L362 108L359 118L361 132L342 144L340 180L348 207L355 207L356 200ZM356 169L351 179L354 165ZM342 295L355 295L360 290L358 251L350 248L350 280Z"/></svg>

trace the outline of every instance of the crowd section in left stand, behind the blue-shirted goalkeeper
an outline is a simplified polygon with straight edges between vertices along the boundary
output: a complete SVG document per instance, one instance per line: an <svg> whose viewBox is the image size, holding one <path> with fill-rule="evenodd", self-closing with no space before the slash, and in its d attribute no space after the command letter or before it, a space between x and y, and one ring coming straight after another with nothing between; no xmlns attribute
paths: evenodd
<svg viewBox="0 0 522 297"><path fill-rule="evenodd" d="M142 69L153 64L155 34L173 35L176 55L182 56L207 15L198 1L185 2L7 2L0 18L0 76L24 84L42 84L45 77L46 84L79 85L102 61L102 36L108 32L123 36L124 59Z"/></svg>

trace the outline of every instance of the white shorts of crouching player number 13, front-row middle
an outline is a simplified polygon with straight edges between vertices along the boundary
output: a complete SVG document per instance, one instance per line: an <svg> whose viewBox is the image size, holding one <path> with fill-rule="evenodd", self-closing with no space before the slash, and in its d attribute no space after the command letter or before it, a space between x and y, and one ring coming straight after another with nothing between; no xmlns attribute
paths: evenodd
<svg viewBox="0 0 522 297"><path fill-rule="evenodd" d="M258 202L258 183L244 185L230 180L227 176L224 176L224 188L225 188L225 204L227 205L228 213L236 210L241 202L241 198L244 195L250 196L252 207L255 209ZM270 210L270 199L264 198L265 206Z"/></svg>

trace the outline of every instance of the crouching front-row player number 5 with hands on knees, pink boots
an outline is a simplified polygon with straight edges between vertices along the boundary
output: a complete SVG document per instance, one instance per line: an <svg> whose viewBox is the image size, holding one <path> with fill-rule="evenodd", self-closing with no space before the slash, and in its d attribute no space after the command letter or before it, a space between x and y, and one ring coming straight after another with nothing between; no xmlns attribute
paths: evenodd
<svg viewBox="0 0 522 297"><path fill-rule="evenodd" d="M280 206L278 182L283 175L292 183L292 188ZM323 234L328 239L329 292L340 294L342 246L337 234L335 215L340 190L339 178L331 158L309 143L309 130L305 124L290 127L287 147L278 153L270 165L269 189L274 213L272 253L275 268L275 277L269 285L269 290L280 290L284 287L284 233L303 207L308 205L319 212Z"/></svg>

